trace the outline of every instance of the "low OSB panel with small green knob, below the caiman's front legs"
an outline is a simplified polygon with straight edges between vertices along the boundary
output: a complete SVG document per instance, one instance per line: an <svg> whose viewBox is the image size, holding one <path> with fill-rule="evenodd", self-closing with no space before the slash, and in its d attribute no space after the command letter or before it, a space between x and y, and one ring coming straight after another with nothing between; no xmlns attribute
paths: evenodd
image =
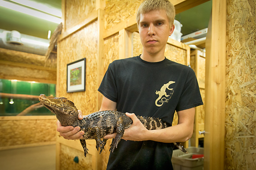
<svg viewBox="0 0 256 170"><path fill-rule="evenodd" d="M82 151L60 145L60 170L92 170L91 155L84 156ZM74 161L77 157L78 162Z"/></svg>

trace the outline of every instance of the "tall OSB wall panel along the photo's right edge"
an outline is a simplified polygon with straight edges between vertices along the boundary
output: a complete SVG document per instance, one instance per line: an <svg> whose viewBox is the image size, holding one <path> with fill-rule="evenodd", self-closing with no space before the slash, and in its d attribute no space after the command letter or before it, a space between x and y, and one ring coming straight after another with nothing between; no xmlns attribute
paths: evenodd
<svg viewBox="0 0 256 170"><path fill-rule="evenodd" d="M255 0L227 0L227 170L256 169L255 11Z"/></svg>

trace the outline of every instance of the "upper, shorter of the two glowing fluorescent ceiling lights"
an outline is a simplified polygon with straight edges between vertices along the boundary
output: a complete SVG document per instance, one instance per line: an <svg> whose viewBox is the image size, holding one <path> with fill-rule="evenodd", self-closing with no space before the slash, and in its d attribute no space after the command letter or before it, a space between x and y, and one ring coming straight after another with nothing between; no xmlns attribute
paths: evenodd
<svg viewBox="0 0 256 170"><path fill-rule="evenodd" d="M54 15L54 16L59 17L59 18L61 18L61 16L62 16L61 11L56 9L55 7L49 7L45 4L37 3L37 2L32 1L32 0L9 0L9 1L15 2L17 4L21 4L23 6L27 6L27 7L37 9L38 11L43 11L47 14L51 14L51 15Z"/></svg>

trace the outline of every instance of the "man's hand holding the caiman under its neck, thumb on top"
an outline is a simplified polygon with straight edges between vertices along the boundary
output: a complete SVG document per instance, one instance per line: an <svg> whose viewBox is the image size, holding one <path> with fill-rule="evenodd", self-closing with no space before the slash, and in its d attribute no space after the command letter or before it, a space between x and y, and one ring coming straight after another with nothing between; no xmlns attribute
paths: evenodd
<svg viewBox="0 0 256 170"><path fill-rule="evenodd" d="M83 115L82 112L79 110L78 111L79 115L78 115L78 119L82 120L83 119ZM72 126L68 126L68 127L63 127L60 124L60 121L57 120L57 131L60 132L60 136L64 137L65 139L82 139L83 138L83 134L84 131L80 131L80 127L72 127Z"/></svg>

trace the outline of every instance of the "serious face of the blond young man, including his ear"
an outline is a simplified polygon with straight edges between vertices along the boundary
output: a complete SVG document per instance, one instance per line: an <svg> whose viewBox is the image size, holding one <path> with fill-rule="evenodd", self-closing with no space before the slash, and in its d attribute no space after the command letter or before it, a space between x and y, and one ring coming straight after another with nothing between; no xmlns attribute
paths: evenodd
<svg viewBox="0 0 256 170"><path fill-rule="evenodd" d="M174 25L169 26L165 10L154 10L140 14L139 35L143 45L143 53L164 53L168 37L173 33L173 30Z"/></svg>

